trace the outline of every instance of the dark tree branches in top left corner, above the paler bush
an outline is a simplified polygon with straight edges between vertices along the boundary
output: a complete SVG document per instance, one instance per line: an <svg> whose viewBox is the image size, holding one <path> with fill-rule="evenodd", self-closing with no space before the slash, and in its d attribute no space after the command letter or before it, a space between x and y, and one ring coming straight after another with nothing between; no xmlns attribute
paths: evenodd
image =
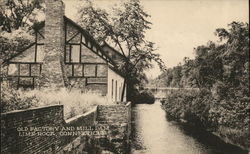
<svg viewBox="0 0 250 154"><path fill-rule="evenodd" d="M37 21L37 14L44 9L43 0L4 0L0 5L0 28L11 33Z"/></svg>

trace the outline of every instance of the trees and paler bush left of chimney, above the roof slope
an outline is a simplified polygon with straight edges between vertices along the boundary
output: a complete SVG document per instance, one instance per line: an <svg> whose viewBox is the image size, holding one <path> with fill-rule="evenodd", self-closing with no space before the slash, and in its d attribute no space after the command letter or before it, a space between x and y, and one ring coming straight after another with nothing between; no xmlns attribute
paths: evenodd
<svg viewBox="0 0 250 154"><path fill-rule="evenodd" d="M0 63L30 45L31 26L44 11L44 0L3 0L0 5Z"/></svg>

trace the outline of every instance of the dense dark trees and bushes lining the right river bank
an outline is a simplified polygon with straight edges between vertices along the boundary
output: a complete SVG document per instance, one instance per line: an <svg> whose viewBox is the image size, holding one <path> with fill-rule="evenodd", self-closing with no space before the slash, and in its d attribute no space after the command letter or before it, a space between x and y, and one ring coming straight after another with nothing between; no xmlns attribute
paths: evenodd
<svg viewBox="0 0 250 154"><path fill-rule="evenodd" d="M171 80L167 86L200 89L169 95L164 108L177 119L213 129L249 148L249 25L232 22L228 30L219 28L215 34L220 43L195 48L195 59L185 58L183 65L161 76Z"/></svg>

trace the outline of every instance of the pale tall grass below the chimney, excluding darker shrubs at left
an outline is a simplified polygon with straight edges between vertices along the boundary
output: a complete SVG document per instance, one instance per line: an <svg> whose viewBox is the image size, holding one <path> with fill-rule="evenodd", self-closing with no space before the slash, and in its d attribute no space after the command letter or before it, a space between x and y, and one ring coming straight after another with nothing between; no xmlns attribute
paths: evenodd
<svg viewBox="0 0 250 154"><path fill-rule="evenodd" d="M64 105L65 118L70 118L75 115L85 113L94 106L107 104L106 97L92 91L82 93L80 90L66 90L59 91L51 90L33 90L31 93L35 95L39 102L39 106L47 106L51 104Z"/></svg>

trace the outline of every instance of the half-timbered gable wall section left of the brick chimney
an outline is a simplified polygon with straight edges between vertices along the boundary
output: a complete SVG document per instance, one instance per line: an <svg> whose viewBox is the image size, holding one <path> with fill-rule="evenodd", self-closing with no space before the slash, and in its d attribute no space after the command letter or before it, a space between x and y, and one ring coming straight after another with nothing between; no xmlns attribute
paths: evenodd
<svg viewBox="0 0 250 154"><path fill-rule="evenodd" d="M34 43L8 61L7 82L14 88L35 88L44 58L44 28L34 32Z"/></svg>

